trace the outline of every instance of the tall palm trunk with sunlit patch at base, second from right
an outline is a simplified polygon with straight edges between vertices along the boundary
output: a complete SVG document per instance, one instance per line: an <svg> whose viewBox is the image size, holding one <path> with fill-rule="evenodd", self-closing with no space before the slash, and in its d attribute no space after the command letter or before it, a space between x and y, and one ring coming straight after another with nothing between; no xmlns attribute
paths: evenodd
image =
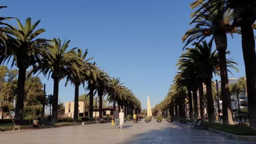
<svg viewBox="0 0 256 144"><path fill-rule="evenodd" d="M219 68L221 75L221 97L222 97L222 114L223 124L234 124L232 120L232 109L230 103L229 80L227 75L227 35L226 33L216 34L215 36L216 49L219 52Z"/></svg>

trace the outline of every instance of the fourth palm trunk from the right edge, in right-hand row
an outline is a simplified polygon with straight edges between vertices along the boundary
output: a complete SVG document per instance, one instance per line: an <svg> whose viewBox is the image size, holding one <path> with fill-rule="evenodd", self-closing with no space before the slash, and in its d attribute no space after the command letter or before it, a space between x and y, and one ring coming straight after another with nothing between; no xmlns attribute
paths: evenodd
<svg viewBox="0 0 256 144"><path fill-rule="evenodd" d="M199 103L200 103L200 117L205 120L205 98L203 94L203 81L201 78L198 79L198 92L199 92Z"/></svg>

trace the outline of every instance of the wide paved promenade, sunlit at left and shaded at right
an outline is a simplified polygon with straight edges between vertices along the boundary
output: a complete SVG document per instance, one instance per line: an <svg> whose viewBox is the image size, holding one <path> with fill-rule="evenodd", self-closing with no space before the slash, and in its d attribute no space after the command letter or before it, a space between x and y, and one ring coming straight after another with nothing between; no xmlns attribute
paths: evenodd
<svg viewBox="0 0 256 144"><path fill-rule="evenodd" d="M123 129L111 123L66 126L39 130L0 132L0 144L256 144L235 141L219 134L195 130L177 122L126 122Z"/></svg>

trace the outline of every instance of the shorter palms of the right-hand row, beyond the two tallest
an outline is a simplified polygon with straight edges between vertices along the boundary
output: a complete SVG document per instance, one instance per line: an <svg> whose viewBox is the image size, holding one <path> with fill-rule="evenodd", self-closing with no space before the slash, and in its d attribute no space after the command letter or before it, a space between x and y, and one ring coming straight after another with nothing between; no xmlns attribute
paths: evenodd
<svg viewBox="0 0 256 144"><path fill-rule="evenodd" d="M193 43L195 48L186 48L186 52L182 53L178 63L179 72L174 77L173 85L165 99L160 103L160 109L169 109L170 114L185 117L185 101L189 104L189 117L197 119L198 116L205 119L205 97L207 100L208 120L213 122L214 107L212 93L213 74L220 75L219 53L212 51L211 45L206 41L202 43ZM226 53L229 53L226 51ZM227 59L227 67L234 68L235 62ZM204 96L203 83L206 86L206 96ZM197 91L199 93L200 114L197 108ZM221 95L222 96L222 95Z"/></svg>

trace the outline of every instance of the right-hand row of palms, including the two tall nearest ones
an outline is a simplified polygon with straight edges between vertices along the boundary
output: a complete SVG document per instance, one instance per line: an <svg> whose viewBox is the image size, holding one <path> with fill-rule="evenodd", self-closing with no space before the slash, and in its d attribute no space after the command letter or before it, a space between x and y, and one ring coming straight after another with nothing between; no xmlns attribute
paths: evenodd
<svg viewBox="0 0 256 144"><path fill-rule="evenodd" d="M192 106L191 91L193 93L193 102L196 104L194 93L199 91L200 99L200 116L205 118L204 112L204 97L203 97L203 83L206 85L207 90L207 106L209 121L213 120L213 105L212 105L212 93L211 93L211 78L212 73L219 74L221 77L221 96L222 96L222 110L223 110L223 124L233 124L232 121L232 109L230 108L230 91L228 85L228 73L227 67L234 67L233 61L226 58L227 52L227 34L233 36L234 33L242 36L242 50L243 58L245 62L245 74L246 74L246 88L248 96L250 127L256 128L256 52L255 52L255 40L253 35L253 29L256 28L254 24L256 20L256 0L195 0L190 7L195 9L192 13L192 24L194 27L189 29L182 37L182 41L185 42L184 48L192 42L196 48L192 51L197 51L199 43L202 45L208 45L208 49L211 48L213 42L216 45L216 53L208 51L204 61L190 57L187 52L181 56L178 62L179 73L175 77L174 89L183 88L179 83L185 83L188 91L189 107ZM204 40L208 39L206 43ZM205 47L205 46L203 46ZM183 49L184 49L183 48ZM205 49L206 50L206 49ZM190 51L187 49L187 51ZM199 51L197 51L199 52ZM212 58L216 59L215 63L210 61ZM209 59L208 59L209 58ZM190 61L194 63L194 67L190 67ZM207 67L203 67L205 65ZM187 69L192 70L191 73L186 72ZM180 82L181 80L181 82ZM185 82L184 82L185 81ZM187 81L187 82L186 82ZM173 92L171 92L173 93ZM194 107L194 117L197 116L197 107ZM190 107L190 115L192 116L192 108Z"/></svg>

